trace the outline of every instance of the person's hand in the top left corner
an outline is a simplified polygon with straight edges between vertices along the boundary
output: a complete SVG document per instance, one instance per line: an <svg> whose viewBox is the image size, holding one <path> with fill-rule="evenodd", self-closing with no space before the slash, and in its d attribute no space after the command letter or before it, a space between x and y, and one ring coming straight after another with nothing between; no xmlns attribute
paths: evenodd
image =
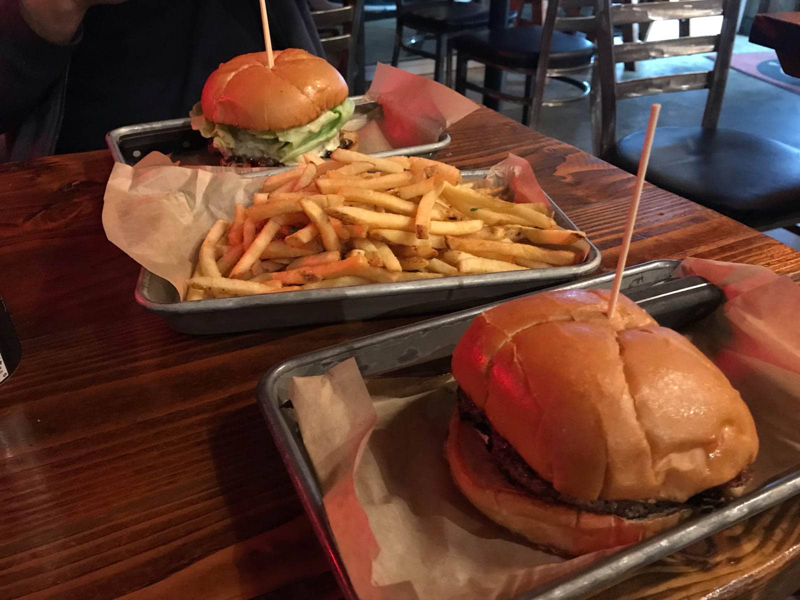
<svg viewBox="0 0 800 600"><path fill-rule="evenodd" d="M94 4L122 2L126 0L19 0L19 10L39 36L54 44L68 44L81 26L86 9Z"/></svg>

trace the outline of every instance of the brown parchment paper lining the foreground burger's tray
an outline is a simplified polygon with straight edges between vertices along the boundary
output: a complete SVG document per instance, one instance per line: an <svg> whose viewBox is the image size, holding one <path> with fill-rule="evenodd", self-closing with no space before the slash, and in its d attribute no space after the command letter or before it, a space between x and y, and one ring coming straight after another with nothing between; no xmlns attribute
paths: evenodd
<svg viewBox="0 0 800 600"><path fill-rule="evenodd" d="M729 298L689 333L750 406L758 486L800 462L800 288L762 267L692 258L680 274L700 274ZM362 600L514 598L613 552L565 561L474 510L442 452L454 408L448 375L365 384L350 359L295 378L290 397Z"/></svg>

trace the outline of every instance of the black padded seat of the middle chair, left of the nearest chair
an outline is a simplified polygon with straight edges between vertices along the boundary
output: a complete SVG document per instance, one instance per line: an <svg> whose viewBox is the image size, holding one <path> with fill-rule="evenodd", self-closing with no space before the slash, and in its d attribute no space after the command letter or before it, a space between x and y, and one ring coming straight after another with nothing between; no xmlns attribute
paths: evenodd
<svg viewBox="0 0 800 600"><path fill-rule="evenodd" d="M494 62L510 69L536 69L542 47L542 26L494 29L478 34L463 34L453 42L459 53L478 61ZM594 44L582 35L553 32L550 45L550 69L588 66Z"/></svg>

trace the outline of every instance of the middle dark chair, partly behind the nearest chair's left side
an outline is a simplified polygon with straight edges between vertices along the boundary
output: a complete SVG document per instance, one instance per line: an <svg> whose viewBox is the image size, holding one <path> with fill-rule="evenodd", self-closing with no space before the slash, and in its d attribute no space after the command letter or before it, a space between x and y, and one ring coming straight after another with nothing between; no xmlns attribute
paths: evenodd
<svg viewBox="0 0 800 600"><path fill-rule="evenodd" d="M484 97L497 98L522 105L522 124L530 126L533 110L534 127L538 122L542 106L562 106L590 94L591 86L574 74L592 70L594 43L576 32L591 32L596 27L596 16L580 15L583 7L594 11L595 0L552 0L548 3L544 25L511 27L459 35L450 40L450 52L458 53L456 62L455 89L460 94L466 90L480 92ZM567 14L558 16L559 8L567 8ZM565 33L570 31L571 33ZM503 90L494 90L466 78L467 62L480 62L510 73L525 75L525 86L521 96ZM534 77L536 86L534 90ZM578 94L566 98L544 99L548 78L574 86Z"/></svg>

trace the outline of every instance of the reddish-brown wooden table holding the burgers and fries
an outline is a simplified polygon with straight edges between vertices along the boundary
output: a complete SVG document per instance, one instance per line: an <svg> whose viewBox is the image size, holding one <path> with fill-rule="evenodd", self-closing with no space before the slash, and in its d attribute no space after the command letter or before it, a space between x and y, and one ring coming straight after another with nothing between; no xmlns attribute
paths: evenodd
<svg viewBox="0 0 800 600"><path fill-rule="evenodd" d="M483 108L450 133L458 166L529 158L613 268L634 178ZM103 234L111 164L0 166L0 294L23 351L0 386L0 598L340 598L254 388L278 361L414 318L175 333ZM794 250L646 186L630 263L687 255L800 278ZM787 502L602 598L782 598L800 587L798 516Z"/></svg>

